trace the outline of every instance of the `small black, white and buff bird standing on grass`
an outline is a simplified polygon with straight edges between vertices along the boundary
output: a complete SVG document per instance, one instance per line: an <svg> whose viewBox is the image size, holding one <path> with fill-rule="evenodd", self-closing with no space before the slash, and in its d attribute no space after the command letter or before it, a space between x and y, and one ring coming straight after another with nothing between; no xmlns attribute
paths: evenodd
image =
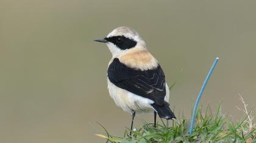
<svg viewBox="0 0 256 143"><path fill-rule="evenodd" d="M107 44L112 53L107 69L107 87L115 104L132 115L130 135L135 113L154 111L154 127L157 114L160 118L176 119L169 108L165 74L136 30L121 26L105 38L94 41Z"/></svg>

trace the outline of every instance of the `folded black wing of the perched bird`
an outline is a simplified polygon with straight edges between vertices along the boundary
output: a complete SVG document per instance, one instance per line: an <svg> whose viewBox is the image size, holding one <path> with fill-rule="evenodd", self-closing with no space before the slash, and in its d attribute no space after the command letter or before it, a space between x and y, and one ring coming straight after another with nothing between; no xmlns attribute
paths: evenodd
<svg viewBox="0 0 256 143"><path fill-rule="evenodd" d="M160 65L152 70L141 71L127 67L115 58L108 66L107 76L110 82L119 88L151 99L157 105L168 105L164 101L166 95L165 74Z"/></svg>

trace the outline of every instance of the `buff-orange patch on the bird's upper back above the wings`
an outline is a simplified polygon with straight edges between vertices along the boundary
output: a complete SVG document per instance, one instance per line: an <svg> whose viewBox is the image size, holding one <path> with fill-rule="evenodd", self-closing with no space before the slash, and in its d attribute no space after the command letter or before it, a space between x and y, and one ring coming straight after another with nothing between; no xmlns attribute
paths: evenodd
<svg viewBox="0 0 256 143"><path fill-rule="evenodd" d="M138 70L151 70L158 66L157 60L146 49L134 48L118 57L127 67Z"/></svg>

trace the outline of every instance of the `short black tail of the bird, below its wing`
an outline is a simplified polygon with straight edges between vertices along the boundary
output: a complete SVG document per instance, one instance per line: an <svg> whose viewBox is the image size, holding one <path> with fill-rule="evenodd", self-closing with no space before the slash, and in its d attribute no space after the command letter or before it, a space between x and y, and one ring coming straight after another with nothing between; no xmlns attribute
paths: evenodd
<svg viewBox="0 0 256 143"><path fill-rule="evenodd" d="M157 112L160 118L165 119L176 119L174 113L171 111L171 109L168 106L165 105L157 105L157 104L151 104L151 106L154 108L154 110Z"/></svg>

